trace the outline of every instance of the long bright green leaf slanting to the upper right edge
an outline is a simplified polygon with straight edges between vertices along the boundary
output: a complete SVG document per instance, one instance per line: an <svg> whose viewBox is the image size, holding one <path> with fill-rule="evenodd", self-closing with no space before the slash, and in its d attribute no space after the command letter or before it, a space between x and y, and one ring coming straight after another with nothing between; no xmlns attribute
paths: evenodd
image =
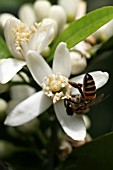
<svg viewBox="0 0 113 170"><path fill-rule="evenodd" d="M49 62L52 60L54 51L61 41L66 42L67 47L71 48L91 35L102 25L109 22L111 19L113 19L113 7L107 6L92 11L79 20L72 22L57 38L47 61Z"/></svg>

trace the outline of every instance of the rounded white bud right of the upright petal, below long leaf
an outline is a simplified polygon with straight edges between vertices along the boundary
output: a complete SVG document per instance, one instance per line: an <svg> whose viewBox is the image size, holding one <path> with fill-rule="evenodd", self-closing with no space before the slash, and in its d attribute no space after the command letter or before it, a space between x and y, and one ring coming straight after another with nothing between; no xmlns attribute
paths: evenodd
<svg viewBox="0 0 113 170"><path fill-rule="evenodd" d="M86 58L78 51L71 51L71 74L81 73L87 66Z"/></svg>

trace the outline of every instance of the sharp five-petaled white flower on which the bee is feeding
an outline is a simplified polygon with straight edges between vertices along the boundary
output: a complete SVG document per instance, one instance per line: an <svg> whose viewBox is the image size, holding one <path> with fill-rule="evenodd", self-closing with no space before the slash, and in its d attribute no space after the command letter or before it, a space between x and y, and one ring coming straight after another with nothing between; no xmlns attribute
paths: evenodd
<svg viewBox="0 0 113 170"><path fill-rule="evenodd" d="M31 97L27 98L10 112L5 120L6 125L18 126L34 119L36 116L39 116L52 105L56 93L59 93L59 95L60 93L63 93L63 97L66 97L65 90L67 86L65 84L66 82L63 80L68 79L70 76L71 60L65 43L61 42L56 48L52 69L40 56L40 54L35 51L29 51L27 55L27 65L32 73L34 80L40 86L42 86L42 83L44 83L50 96L48 94L46 95L43 84L44 90L39 91ZM59 77L56 76L57 73ZM96 71L90 74L93 76L97 88L103 86L108 80L108 74L106 72ZM63 76L65 77L64 79ZM84 75L74 77L72 81L82 83L83 77ZM55 86L54 81L56 81L58 86ZM53 86L51 83L53 83ZM78 94L77 89L74 88L73 93ZM53 104L56 116L67 135L75 140L84 140L86 136L86 128L83 116L77 114L68 116L62 96L58 97L58 101L55 101Z"/></svg>

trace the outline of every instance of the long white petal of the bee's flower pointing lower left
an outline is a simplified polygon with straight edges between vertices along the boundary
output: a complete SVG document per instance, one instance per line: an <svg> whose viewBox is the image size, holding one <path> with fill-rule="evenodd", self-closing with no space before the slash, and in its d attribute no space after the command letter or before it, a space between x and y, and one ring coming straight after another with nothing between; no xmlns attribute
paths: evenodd
<svg viewBox="0 0 113 170"><path fill-rule="evenodd" d="M30 96L9 113L4 122L5 125L18 126L22 125L48 109L52 100L44 95L43 91Z"/></svg>

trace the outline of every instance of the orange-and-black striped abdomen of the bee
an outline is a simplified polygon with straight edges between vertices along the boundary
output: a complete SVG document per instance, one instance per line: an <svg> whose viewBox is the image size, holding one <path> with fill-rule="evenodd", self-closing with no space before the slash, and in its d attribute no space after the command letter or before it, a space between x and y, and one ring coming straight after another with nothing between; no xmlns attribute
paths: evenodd
<svg viewBox="0 0 113 170"><path fill-rule="evenodd" d="M83 94L86 100L93 100L96 97L95 82L90 74L86 74L84 77Z"/></svg>

